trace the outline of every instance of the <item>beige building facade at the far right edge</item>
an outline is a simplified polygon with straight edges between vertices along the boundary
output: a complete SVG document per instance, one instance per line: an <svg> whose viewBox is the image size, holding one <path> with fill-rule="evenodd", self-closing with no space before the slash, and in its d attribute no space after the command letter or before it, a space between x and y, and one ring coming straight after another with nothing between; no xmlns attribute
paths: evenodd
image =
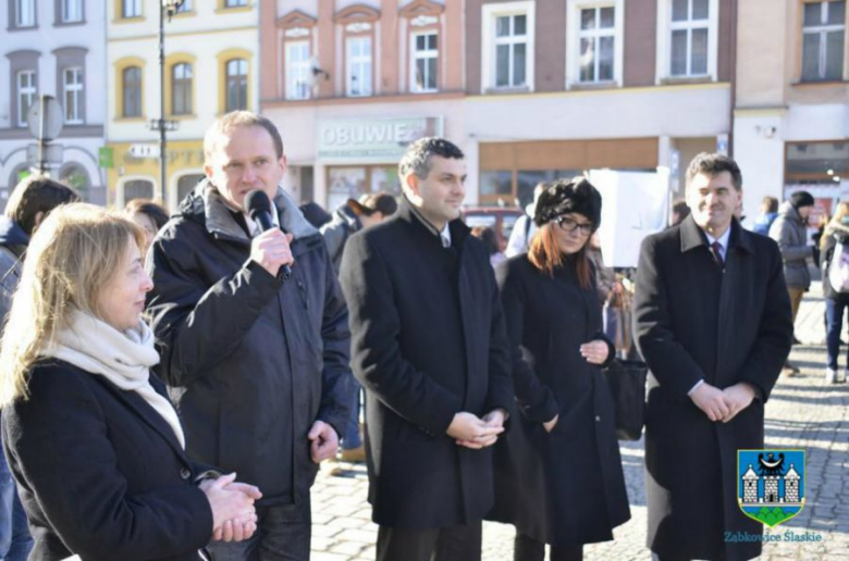
<svg viewBox="0 0 849 561"><path fill-rule="evenodd" d="M847 24L845 1L740 2L734 149L749 215L802 188L823 213L849 199Z"/></svg>

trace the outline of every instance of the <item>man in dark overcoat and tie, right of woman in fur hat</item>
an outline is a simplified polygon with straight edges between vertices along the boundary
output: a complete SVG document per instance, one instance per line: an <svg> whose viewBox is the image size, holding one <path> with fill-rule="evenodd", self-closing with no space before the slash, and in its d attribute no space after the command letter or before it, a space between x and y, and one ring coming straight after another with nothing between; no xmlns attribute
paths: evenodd
<svg viewBox="0 0 849 561"><path fill-rule="evenodd" d="M737 451L763 448L764 402L792 340L775 241L733 213L734 160L701 153L687 170L680 225L648 237L637 269L635 338L651 370L645 420L649 547L661 560L740 560L763 526L737 504ZM735 534L736 535L736 534Z"/></svg>

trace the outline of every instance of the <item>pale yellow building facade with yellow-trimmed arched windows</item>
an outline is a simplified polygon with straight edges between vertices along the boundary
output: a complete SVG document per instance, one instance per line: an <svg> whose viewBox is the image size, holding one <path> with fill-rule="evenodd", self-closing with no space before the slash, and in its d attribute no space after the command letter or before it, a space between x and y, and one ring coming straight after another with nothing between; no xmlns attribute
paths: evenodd
<svg viewBox="0 0 849 561"><path fill-rule="evenodd" d="M163 200L171 209L204 176L204 133L220 115L259 107L259 0L185 0L165 25L160 80L159 0L107 1L109 200L159 198L159 120L168 133Z"/></svg>

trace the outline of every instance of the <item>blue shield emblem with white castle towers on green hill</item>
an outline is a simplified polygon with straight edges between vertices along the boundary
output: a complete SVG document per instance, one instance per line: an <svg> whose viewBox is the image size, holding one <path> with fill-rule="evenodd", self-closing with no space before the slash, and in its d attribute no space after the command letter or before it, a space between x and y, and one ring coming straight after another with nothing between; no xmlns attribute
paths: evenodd
<svg viewBox="0 0 849 561"><path fill-rule="evenodd" d="M804 508L804 450L738 450L737 501L743 514L777 526Z"/></svg>

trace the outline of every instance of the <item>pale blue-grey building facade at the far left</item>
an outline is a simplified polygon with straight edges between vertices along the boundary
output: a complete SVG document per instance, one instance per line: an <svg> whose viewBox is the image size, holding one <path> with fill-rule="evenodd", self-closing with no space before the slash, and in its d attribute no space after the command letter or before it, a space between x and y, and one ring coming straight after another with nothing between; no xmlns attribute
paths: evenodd
<svg viewBox="0 0 849 561"><path fill-rule="evenodd" d="M29 108L40 95L60 103L64 126L49 173L84 199L106 201L99 167L106 119L104 8L96 0L9 0L0 10L0 207L30 167ZM27 150L30 155L27 155Z"/></svg>

